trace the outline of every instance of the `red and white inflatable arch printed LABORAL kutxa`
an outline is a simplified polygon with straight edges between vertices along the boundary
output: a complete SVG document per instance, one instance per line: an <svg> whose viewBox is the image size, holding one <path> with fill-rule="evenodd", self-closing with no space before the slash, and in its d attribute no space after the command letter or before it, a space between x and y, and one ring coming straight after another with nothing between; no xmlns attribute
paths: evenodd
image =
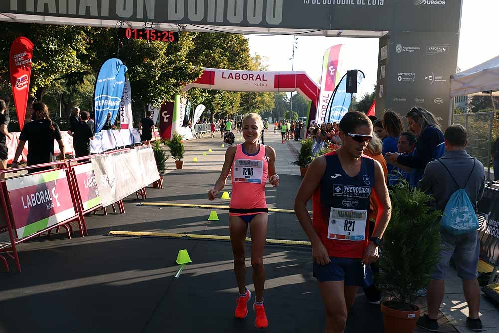
<svg viewBox="0 0 499 333"><path fill-rule="evenodd" d="M305 72L267 72L203 68L201 76L182 89L216 89L244 92L294 92L310 101L307 122L315 120L320 86Z"/></svg>

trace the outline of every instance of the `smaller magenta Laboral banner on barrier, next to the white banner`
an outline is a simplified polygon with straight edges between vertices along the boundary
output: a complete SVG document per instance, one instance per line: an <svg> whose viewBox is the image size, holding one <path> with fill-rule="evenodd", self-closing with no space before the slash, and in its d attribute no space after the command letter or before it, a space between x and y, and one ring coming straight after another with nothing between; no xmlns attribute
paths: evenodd
<svg viewBox="0 0 499 333"><path fill-rule="evenodd" d="M73 170L76 176L76 185L78 186L81 196L83 210L97 207L101 201L92 163L75 165Z"/></svg>

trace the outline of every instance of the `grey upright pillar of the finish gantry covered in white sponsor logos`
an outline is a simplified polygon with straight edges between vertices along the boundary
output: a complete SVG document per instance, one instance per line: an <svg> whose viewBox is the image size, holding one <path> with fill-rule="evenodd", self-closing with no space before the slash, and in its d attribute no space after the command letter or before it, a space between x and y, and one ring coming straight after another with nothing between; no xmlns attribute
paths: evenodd
<svg viewBox="0 0 499 333"><path fill-rule="evenodd" d="M424 107L450 124L449 78L456 72L459 36L453 32L391 32L380 40L376 116L405 116Z"/></svg>

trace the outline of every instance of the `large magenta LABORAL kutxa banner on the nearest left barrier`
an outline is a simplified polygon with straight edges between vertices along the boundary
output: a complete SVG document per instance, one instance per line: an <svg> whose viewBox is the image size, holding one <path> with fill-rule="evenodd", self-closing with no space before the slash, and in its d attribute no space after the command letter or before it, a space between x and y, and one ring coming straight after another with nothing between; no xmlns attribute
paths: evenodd
<svg viewBox="0 0 499 333"><path fill-rule="evenodd" d="M65 170L5 182L19 239L76 216Z"/></svg>

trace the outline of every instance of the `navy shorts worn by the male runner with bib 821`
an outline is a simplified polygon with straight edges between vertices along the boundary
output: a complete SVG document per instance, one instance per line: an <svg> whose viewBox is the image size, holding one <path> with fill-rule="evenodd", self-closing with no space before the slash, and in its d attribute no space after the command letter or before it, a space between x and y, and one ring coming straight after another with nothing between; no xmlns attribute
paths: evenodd
<svg viewBox="0 0 499 333"><path fill-rule="evenodd" d="M360 258L329 257L327 265L313 263L313 276L319 282L345 281L346 286L368 287L373 283L369 265L362 264Z"/></svg>

